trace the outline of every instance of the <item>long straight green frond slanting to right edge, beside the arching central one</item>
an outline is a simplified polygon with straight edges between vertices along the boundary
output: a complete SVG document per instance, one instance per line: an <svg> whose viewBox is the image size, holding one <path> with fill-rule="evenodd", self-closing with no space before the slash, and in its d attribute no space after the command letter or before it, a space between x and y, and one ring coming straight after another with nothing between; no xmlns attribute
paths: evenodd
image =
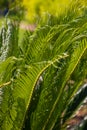
<svg viewBox="0 0 87 130"><path fill-rule="evenodd" d="M84 48L84 49L83 49ZM45 129L52 129L56 123L57 118L61 118L62 115L61 111L63 111L63 98L62 95L64 94L64 88L69 80L71 74L73 73L74 69L78 65L83 53L87 49L87 43L85 41L81 42L78 49L75 50L71 57L71 61L69 61L68 68L66 69L65 75L62 77L63 82L59 86L55 98L53 98L53 87L54 86L44 86L42 90L42 94L39 99L38 106L33 114L32 119L32 130L45 130ZM77 51L78 50L78 51ZM60 79L61 80L61 79ZM49 87L50 86L50 87ZM51 103L50 103L51 101ZM44 109L42 109L44 108ZM36 121L37 120L37 121Z"/></svg>

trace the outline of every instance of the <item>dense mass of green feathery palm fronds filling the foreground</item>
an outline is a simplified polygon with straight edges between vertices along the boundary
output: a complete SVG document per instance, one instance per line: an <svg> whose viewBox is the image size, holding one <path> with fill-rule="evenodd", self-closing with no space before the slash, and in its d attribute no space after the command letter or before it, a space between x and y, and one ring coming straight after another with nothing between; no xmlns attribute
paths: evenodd
<svg viewBox="0 0 87 130"><path fill-rule="evenodd" d="M21 40L17 21L1 28L1 130L67 129L87 97L87 9L82 4L76 0L58 17L46 15ZM85 117L74 130L86 126Z"/></svg>

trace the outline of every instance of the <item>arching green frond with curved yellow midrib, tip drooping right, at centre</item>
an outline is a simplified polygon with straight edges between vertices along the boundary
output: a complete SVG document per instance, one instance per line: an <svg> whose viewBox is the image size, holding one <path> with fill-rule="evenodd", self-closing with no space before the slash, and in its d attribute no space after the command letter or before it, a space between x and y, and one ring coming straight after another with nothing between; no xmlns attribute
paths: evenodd
<svg viewBox="0 0 87 130"><path fill-rule="evenodd" d="M8 92L11 93L12 98L13 98L13 103L9 104L9 101L6 102L5 99L3 99L3 100L5 100L5 103L4 102L1 103L1 106L2 106L2 104L6 105L5 111L2 110L3 107L1 107L1 110L3 111L3 113L1 112L1 115L3 116L3 118L6 114L6 111L7 110L9 111L8 117L1 119L1 122L2 122L1 128L3 128L4 126L7 126L7 124L8 124L8 127L7 127L8 130L13 128L13 126L16 129L19 129L22 127L21 120L19 120L19 118L22 119L22 122L24 121L26 110L28 109L28 106L30 104L32 94L34 91L34 87L38 81L39 76L49 66L54 64L57 60L64 58L64 57L66 57L66 56L58 56L58 57L54 57L54 59L51 61L35 63L31 66L27 66L27 68L25 68L25 72L23 72L23 74L20 74L19 78L17 80L15 80L15 82L13 84L11 84L11 86L8 85L7 90L5 89L5 92L3 91L3 93L5 94L7 92L7 95L8 95ZM8 89L11 89L14 87L15 87L15 89L8 90ZM23 105L22 107L25 110L24 112L21 111L21 105L18 105L19 102L21 102L21 105ZM9 108L9 109L8 109L8 104L11 105L11 108ZM17 107L18 107L18 111L17 111ZM15 112L15 114L13 114L14 112ZM21 117L19 117L20 112L22 112ZM10 115L9 113L12 113L12 115ZM18 123L17 123L17 120L18 120ZM15 126L15 124L16 124L16 126Z"/></svg>

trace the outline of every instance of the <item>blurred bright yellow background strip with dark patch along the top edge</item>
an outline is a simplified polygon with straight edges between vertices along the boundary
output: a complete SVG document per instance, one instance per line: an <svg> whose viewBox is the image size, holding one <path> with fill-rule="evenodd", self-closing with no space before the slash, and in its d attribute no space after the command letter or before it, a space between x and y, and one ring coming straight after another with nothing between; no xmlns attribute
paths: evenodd
<svg viewBox="0 0 87 130"><path fill-rule="evenodd" d="M6 16L9 12L9 16L18 16L32 23L46 13L58 16L68 8L71 1L73 0L0 0L0 16ZM84 6L87 2L84 0L81 3Z"/></svg>

